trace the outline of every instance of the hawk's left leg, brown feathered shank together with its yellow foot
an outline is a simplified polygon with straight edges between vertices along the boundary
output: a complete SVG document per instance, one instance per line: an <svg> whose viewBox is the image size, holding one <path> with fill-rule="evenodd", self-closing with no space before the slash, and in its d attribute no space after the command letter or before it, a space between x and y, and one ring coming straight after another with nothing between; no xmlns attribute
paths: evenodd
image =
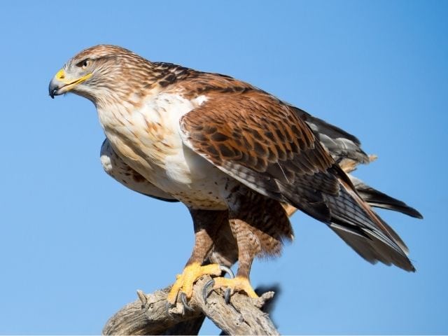
<svg viewBox="0 0 448 336"><path fill-rule="evenodd" d="M182 274L177 275L176 282L168 293L167 300L170 304L176 302L179 292L185 293L189 299L193 295L193 284L201 276L219 276L223 271L229 271L227 267L218 264L202 265L214 244L216 232L227 222L228 211L190 209L190 214L195 226L195 246Z"/></svg>

